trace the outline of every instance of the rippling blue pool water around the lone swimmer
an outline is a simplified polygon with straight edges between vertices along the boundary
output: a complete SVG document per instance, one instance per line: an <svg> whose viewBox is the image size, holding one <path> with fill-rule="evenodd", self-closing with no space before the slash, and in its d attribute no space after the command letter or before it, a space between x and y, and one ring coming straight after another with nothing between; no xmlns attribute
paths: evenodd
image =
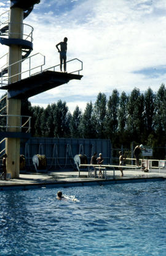
<svg viewBox="0 0 166 256"><path fill-rule="evenodd" d="M0 195L0 255L166 255L165 181Z"/></svg>

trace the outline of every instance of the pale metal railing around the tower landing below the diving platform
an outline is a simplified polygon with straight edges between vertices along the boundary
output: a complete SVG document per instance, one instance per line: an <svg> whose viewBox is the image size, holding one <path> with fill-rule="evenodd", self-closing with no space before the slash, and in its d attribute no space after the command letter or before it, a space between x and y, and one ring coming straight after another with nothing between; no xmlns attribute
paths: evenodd
<svg viewBox="0 0 166 256"><path fill-rule="evenodd" d="M20 132L22 132L22 129L25 129L25 132L28 133L31 131L31 116L19 116L17 114L0 114L0 117L6 118L6 126L0 126L1 128L6 128L6 131L9 130L9 128L16 128L19 129ZM9 125L9 118L10 117L18 117L20 118L20 125L18 126L10 126ZM23 122L23 119L27 119ZM26 126L27 124L27 126Z"/></svg>

